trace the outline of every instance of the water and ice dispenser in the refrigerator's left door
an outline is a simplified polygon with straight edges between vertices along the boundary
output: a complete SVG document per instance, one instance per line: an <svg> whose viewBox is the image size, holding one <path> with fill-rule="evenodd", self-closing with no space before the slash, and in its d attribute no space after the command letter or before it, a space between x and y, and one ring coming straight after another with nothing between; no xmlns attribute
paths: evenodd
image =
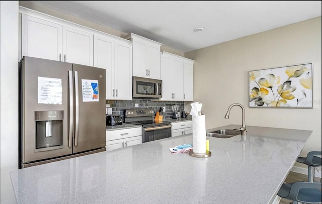
<svg viewBox="0 0 322 204"><path fill-rule="evenodd" d="M62 146L64 111L35 111L34 113L36 150Z"/></svg>

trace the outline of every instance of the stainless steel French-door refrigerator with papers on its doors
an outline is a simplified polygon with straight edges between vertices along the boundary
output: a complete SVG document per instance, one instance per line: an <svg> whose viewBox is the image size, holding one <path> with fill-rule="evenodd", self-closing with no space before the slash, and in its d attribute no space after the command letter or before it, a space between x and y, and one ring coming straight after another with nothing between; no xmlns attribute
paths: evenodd
<svg viewBox="0 0 322 204"><path fill-rule="evenodd" d="M19 168L106 151L105 69L24 56Z"/></svg>

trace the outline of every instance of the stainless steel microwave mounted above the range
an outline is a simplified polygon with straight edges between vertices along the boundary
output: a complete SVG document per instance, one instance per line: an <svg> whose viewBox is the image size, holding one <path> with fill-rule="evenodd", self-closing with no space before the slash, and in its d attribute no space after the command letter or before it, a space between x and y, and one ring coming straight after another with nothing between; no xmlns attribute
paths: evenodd
<svg viewBox="0 0 322 204"><path fill-rule="evenodd" d="M133 76L133 97L162 97L162 80Z"/></svg>

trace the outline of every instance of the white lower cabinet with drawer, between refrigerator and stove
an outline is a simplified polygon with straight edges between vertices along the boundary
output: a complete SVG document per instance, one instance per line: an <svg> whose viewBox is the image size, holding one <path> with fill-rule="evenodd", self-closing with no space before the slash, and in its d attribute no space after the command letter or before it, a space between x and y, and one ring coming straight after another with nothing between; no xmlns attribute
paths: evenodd
<svg viewBox="0 0 322 204"><path fill-rule="evenodd" d="M142 143L142 128L106 131L106 151Z"/></svg>

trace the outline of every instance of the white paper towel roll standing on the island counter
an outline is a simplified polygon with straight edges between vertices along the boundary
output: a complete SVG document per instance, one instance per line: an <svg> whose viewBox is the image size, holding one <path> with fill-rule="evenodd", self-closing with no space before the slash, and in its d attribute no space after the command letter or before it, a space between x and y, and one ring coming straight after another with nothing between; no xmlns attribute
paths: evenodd
<svg viewBox="0 0 322 204"><path fill-rule="evenodd" d="M194 153L206 153L205 115L192 116L192 143Z"/></svg>

